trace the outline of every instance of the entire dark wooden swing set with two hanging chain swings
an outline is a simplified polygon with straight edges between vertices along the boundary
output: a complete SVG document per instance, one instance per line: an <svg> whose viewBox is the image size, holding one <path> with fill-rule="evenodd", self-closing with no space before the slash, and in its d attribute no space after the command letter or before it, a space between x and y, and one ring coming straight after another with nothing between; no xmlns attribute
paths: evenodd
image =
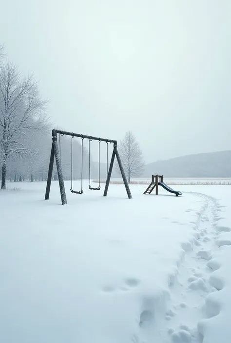
<svg viewBox="0 0 231 343"><path fill-rule="evenodd" d="M59 149L58 149L58 142L57 142L57 134L59 134ZM47 185L46 185L46 193L45 193L45 200L49 199L50 195L50 188L51 188L51 180L52 180L52 172L53 172L53 165L54 165L54 159L56 158L56 165L57 165L57 172L58 172L58 182L59 182L59 189L60 189L60 195L61 195L61 201L62 205L67 204L67 199L66 199L66 191L64 187L64 180L63 180L63 174L62 174L62 166L61 166L61 136L71 136L71 193L74 194L83 194L83 140L88 139L88 154L89 154L89 189L94 190L94 191L99 191L101 189L100 187L100 144L101 142L106 142L106 151L107 151L107 180L105 184L105 189L104 189L104 194L103 196L107 196L108 192L108 187L112 175L112 169L113 169L113 164L115 161L115 157L117 158L117 162L119 165L119 169L123 178L123 182L127 191L127 195L129 199L132 199L132 195L129 189L128 181L125 176L125 172L123 169L123 165L118 153L117 149L117 141L114 140L109 140L109 139L104 139L104 138L97 138L93 136L87 136L87 135L80 135L78 133L73 133L73 132L67 132L67 131L60 131L60 130L52 130L52 147L51 147L51 156L50 156L50 163L49 163L49 169L48 169L48 177L47 177ZM80 191L75 191L73 189L73 139L74 137L79 137L82 140L81 143L81 190ZM98 187L92 187L91 186L91 142L95 140L98 141ZM111 162L110 166L108 169L108 144L113 143L114 148L113 148L113 153L111 157Z"/></svg>

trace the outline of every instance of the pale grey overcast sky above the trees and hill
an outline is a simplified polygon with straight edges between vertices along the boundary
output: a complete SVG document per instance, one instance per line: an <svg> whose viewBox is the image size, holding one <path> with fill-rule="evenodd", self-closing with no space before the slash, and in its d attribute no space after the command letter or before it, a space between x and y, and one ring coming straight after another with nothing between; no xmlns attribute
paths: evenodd
<svg viewBox="0 0 231 343"><path fill-rule="evenodd" d="M0 42L68 131L146 162L231 149L230 0L0 1Z"/></svg>

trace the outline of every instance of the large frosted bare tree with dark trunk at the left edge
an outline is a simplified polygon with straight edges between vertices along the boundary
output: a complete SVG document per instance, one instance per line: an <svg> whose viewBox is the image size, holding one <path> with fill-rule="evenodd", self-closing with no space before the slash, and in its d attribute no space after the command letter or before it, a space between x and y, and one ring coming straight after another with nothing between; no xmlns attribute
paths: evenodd
<svg viewBox="0 0 231 343"><path fill-rule="evenodd" d="M5 189L8 158L17 154L33 157L33 132L48 125L47 101L41 99L33 74L22 77L16 66L7 62L0 69L0 163L1 189ZM29 139L30 137L30 139Z"/></svg>

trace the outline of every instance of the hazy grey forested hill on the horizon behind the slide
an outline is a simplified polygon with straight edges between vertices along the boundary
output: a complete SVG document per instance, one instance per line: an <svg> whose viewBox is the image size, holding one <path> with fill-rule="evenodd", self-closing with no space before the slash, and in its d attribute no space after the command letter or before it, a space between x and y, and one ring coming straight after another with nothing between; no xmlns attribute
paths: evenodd
<svg viewBox="0 0 231 343"><path fill-rule="evenodd" d="M231 150L187 155L147 164L143 176L231 177Z"/></svg>

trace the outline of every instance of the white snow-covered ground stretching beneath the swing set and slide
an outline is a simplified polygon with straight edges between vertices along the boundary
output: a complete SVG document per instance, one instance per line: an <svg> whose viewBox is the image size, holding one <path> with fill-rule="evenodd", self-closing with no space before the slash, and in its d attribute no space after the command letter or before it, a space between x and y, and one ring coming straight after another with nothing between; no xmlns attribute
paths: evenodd
<svg viewBox="0 0 231 343"><path fill-rule="evenodd" d="M230 186L0 191L0 342L230 343ZM78 190L76 181L74 188Z"/></svg>

